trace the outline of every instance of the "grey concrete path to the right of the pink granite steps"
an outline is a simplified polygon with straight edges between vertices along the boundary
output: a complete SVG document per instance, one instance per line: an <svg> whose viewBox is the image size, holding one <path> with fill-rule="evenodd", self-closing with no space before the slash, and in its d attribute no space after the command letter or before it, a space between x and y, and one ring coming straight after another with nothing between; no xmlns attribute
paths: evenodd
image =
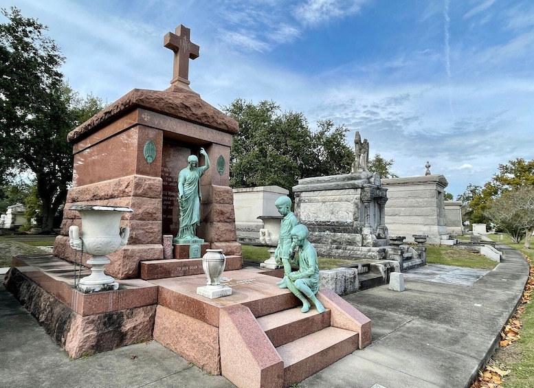
<svg viewBox="0 0 534 388"><path fill-rule="evenodd" d="M425 279L425 269L408 273L404 292L386 285L344 297L371 319L372 344L299 387L469 387L496 349L529 276L520 252L498 249L502 261L476 282L432 281L436 266L428 266Z"/></svg>

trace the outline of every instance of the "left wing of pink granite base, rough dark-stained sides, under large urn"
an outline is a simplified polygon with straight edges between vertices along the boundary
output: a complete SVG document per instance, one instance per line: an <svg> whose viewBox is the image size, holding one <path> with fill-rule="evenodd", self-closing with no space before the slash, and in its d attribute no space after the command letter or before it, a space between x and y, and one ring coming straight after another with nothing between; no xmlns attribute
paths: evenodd
<svg viewBox="0 0 534 388"><path fill-rule="evenodd" d="M90 271L82 271L82 277ZM74 288L73 265L53 255L17 256L5 288L72 358L153 338L158 288L141 279L119 289L84 294Z"/></svg>

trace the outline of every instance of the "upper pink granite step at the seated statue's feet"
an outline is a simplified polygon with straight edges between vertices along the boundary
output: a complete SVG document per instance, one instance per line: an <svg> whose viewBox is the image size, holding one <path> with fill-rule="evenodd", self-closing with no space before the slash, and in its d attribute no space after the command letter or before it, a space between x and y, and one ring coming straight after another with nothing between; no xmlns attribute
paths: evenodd
<svg viewBox="0 0 534 388"><path fill-rule="evenodd" d="M330 310L320 314L312 308L309 312L303 313L299 306L260 317L258 323L274 347L278 347L328 328Z"/></svg>

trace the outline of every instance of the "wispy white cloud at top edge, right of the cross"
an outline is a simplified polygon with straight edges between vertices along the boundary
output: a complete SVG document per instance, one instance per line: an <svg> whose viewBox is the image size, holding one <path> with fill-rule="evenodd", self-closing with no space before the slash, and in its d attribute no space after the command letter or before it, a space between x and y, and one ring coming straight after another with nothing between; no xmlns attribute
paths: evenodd
<svg viewBox="0 0 534 388"><path fill-rule="evenodd" d="M304 25L313 26L356 14L364 3L366 0L308 0L297 5L293 14Z"/></svg>

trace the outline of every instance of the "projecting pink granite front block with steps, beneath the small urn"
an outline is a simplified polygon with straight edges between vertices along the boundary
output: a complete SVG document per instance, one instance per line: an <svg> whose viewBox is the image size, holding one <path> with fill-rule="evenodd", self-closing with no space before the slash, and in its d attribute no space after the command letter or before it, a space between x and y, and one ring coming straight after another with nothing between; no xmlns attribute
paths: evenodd
<svg viewBox="0 0 534 388"><path fill-rule="evenodd" d="M276 278L227 271L232 295L197 295L204 275L152 280L159 286L154 339L238 387L287 387L370 344L370 320L331 290L327 309L300 312L300 301Z"/></svg>

